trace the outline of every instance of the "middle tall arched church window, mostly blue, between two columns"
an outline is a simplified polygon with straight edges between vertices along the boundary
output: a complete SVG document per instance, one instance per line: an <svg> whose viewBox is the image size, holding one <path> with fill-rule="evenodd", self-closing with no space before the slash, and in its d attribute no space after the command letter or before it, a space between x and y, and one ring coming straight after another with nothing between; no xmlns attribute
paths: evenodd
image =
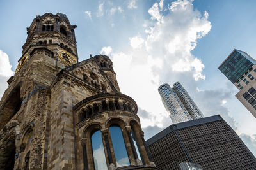
<svg viewBox="0 0 256 170"><path fill-rule="evenodd" d="M109 127L109 132L113 144L117 167L129 166L130 161L120 127L113 125Z"/></svg>

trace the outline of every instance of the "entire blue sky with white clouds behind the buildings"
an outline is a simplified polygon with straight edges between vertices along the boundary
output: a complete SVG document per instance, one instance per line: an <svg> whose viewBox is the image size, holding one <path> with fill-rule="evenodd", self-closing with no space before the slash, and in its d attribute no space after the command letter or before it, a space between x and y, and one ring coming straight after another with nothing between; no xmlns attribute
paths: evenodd
<svg viewBox="0 0 256 170"><path fill-rule="evenodd" d="M256 118L218 70L234 48L256 58L256 1L0 1L0 96L36 15L76 24L79 61L109 55L122 93L138 104L145 138L172 124L157 88L182 83L205 117L220 114L256 155Z"/></svg>

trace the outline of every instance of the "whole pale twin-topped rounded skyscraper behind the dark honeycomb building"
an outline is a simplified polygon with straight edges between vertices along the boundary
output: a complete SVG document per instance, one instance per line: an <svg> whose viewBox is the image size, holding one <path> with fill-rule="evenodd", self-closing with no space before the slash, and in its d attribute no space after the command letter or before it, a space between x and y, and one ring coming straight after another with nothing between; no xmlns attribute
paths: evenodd
<svg viewBox="0 0 256 170"><path fill-rule="evenodd" d="M158 92L173 124L204 117L179 82L174 83L173 88L163 84L158 88Z"/></svg>

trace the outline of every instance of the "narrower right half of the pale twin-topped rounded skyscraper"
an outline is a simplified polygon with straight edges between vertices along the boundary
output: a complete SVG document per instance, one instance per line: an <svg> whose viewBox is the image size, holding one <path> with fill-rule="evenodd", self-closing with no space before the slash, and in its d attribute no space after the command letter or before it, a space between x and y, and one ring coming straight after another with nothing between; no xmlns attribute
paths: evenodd
<svg viewBox="0 0 256 170"><path fill-rule="evenodd" d="M196 106L195 102L191 99L188 92L182 87L179 82L174 83L173 90L179 96L180 101L184 104L191 118L203 118L204 115Z"/></svg>

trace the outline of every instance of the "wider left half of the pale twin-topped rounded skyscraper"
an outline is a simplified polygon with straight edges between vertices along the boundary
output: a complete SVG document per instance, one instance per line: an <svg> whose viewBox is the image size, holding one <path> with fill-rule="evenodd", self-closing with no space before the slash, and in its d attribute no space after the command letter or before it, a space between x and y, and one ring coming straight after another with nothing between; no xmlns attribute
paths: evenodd
<svg viewBox="0 0 256 170"><path fill-rule="evenodd" d="M173 89L168 84L163 84L158 88L159 94L163 101L164 107L170 114L170 118L172 122L186 122L188 120L192 120L188 111L180 101L177 94L173 91Z"/></svg>

